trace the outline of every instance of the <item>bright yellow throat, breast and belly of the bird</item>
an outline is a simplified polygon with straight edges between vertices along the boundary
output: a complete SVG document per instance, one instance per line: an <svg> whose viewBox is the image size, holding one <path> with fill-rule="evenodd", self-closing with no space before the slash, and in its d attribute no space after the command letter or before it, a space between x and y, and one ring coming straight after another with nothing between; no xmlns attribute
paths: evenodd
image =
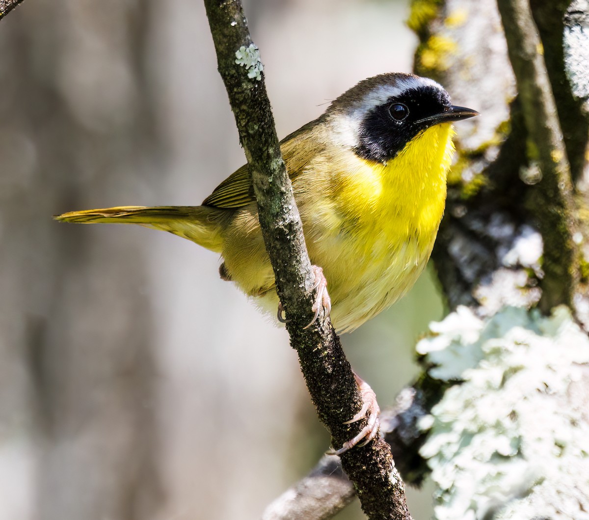
<svg viewBox="0 0 589 520"><path fill-rule="evenodd" d="M338 331L391 305L423 271L444 213L452 134L451 124L431 127L387 164L355 157L330 183L329 204L305 205L309 255L325 271Z"/></svg>

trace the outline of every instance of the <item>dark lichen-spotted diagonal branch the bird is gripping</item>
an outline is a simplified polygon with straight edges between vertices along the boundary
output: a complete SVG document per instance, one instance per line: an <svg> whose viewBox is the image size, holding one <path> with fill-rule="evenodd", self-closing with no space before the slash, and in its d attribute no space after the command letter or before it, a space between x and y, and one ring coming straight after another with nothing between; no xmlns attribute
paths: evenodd
<svg viewBox="0 0 589 520"><path fill-rule="evenodd" d="M287 315L286 327L320 420L341 446L365 426L343 424L359 412L361 397L331 322L304 330L312 320L315 277L300 216L280 154L262 62L253 45L239 0L205 0L219 72L227 88L258 204L260 226ZM239 53L236 60L236 52ZM243 67L242 65L246 65ZM369 518L411 518L391 450L381 439L342 456Z"/></svg>

